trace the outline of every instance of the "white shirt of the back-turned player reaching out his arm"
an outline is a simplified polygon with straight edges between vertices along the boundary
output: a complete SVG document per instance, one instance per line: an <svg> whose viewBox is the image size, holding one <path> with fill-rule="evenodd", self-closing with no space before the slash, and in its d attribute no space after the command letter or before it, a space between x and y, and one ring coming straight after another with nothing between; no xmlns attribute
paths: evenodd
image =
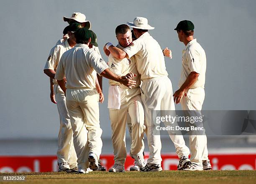
<svg viewBox="0 0 256 184"><path fill-rule="evenodd" d="M66 76L66 88L91 88L96 87L95 81L98 74L109 68L105 61L86 44L76 46L65 52L56 70L56 80Z"/></svg>

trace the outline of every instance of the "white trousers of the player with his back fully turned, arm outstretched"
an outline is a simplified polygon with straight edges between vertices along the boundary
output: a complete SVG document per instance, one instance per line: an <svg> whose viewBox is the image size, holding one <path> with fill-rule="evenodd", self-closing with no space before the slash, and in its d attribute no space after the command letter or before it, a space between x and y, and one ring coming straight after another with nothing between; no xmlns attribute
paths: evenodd
<svg viewBox="0 0 256 184"><path fill-rule="evenodd" d="M95 89L72 88L66 91L77 164L81 169L88 167L88 152L96 154L97 160L100 158L102 129L100 128L99 99Z"/></svg>

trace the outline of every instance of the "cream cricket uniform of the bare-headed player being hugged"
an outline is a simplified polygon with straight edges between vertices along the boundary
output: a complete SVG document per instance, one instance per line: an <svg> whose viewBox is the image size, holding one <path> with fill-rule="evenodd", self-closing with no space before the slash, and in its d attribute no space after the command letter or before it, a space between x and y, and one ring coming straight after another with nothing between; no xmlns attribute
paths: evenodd
<svg viewBox="0 0 256 184"><path fill-rule="evenodd" d="M118 48L124 49L121 45ZM132 72L136 74L133 78L136 81L136 86L132 89L121 85L116 81L110 80L112 86L118 86L120 91L120 109L109 108L111 128L112 128L112 143L114 149L115 164L124 166L127 156L125 146L125 128L127 121L127 113L131 117L131 154L138 154L143 152L143 134L144 134L144 109L141 102L141 77L136 68L136 62L131 59L124 58L122 60L109 55L108 65L110 71L118 76L125 76L127 73ZM110 98L108 99L111 100Z"/></svg>

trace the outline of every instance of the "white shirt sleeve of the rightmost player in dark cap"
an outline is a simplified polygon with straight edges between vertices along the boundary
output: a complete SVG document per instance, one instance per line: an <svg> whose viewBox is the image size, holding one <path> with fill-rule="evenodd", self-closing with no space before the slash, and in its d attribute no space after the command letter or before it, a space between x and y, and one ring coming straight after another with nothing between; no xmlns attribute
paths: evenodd
<svg viewBox="0 0 256 184"><path fill-rule="evenodd" d="M190 49L187 55L187 64L190 72L195 71L200 74L202 63L200 61L200 55L197 50Z"/></svg>

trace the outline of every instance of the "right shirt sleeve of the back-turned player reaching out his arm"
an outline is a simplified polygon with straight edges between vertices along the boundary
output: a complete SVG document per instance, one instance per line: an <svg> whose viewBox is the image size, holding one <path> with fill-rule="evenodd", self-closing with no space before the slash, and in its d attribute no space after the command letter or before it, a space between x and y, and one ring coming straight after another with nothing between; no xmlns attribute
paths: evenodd
<svg viewBox="0 0 256 184"><path fill-rule="evenodd" d="M100 75L102 71L109 68L107 63L100 57L96 51L90 53L90 65Z"/></svg>

